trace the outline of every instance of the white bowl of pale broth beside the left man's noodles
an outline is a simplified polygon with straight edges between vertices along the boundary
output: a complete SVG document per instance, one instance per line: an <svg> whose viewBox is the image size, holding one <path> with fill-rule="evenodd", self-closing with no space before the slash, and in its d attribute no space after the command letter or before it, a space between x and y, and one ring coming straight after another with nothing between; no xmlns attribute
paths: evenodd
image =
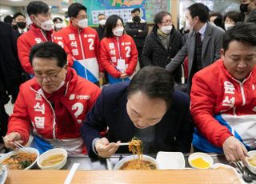
<svg viewBox="0 0 256 184"><path fill-rule="evenodd" d="M62 148L48 150L38 158L38 167L41 170L60 170L66 165L67 152Z"/></svg>

